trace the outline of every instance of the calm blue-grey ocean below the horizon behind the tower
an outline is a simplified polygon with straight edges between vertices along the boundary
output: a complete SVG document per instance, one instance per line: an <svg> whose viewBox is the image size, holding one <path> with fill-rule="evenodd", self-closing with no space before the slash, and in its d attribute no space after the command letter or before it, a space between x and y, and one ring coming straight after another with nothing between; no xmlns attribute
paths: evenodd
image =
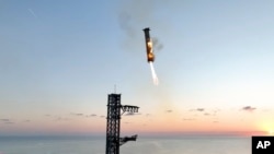
<svg viewBox="0 0 274 154"><path fill-rule="evenodd" d="M0 154L104 154L103 137L0 137ZM121 154L251 154L251 138L138 137Z"/></svg>

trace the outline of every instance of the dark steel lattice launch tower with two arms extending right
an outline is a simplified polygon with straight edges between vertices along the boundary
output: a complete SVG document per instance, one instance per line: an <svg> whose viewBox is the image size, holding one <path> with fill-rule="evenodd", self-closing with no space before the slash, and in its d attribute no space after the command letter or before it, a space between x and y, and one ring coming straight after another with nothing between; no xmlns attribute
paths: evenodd
<svg viewBox="0 0 274 154"><path fill-rule="evenodd" d="M121 94L109 94L106 117L105 154L119 154L119 146L127 141L136 141L137 134L119 138L121 116L124 112L138 112L139 107L121 105Z"/></svg>

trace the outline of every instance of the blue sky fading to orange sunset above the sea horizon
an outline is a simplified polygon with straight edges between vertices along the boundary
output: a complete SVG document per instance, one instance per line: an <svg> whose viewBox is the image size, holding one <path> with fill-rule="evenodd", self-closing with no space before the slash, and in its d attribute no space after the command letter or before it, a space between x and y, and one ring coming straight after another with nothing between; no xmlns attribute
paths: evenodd
<svg viewBox="0 0 274 154"><path fill-rule="evenodd" d="M273 134L273 4L0 0L0 135L105 134L111 93L123 134Z"/></svg>

